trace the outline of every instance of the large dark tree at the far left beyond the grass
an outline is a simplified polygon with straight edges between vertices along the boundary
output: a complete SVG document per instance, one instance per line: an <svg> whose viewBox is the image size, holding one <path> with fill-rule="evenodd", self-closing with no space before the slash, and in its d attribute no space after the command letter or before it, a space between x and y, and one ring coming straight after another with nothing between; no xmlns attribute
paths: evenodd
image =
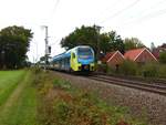
<svg viewBox="0 0 166 125"><path fill-rule="evenodd" d="M23 27L8 27L0 31L0 67L21 66L29 50L32 32Z"/></svg>

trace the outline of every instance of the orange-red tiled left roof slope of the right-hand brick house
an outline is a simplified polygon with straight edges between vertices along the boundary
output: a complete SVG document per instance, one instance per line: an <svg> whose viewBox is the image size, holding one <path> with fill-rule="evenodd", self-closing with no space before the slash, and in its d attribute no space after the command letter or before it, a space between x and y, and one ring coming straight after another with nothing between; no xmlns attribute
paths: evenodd
<svg viewBox="0 0 166 125"><path fill-rule="evenodd" d="M134 61L136 59L136 56L138 56L141 54L141 52L143 52L144 50L145 50L145 48L129 50L124 54L124 56L125 56L125 59L129 59L129 60Z"/></svg>

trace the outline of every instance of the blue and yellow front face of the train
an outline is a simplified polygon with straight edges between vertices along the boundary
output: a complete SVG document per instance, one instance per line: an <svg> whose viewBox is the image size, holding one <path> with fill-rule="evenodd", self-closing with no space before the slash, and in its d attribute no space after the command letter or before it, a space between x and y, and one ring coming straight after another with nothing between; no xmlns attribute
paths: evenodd
<svg viewBox="0 0 166 125"><path fill-rule="evenodd" d="M94 51L91 46L77 48L79 71L94 71Z"/></svg>

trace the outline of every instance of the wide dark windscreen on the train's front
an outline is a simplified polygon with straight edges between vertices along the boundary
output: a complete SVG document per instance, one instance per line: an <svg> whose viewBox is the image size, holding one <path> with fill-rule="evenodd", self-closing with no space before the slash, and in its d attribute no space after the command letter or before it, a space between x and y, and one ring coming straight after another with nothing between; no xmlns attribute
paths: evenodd
<svg viewBox="0 0 166 125"><path fill-rule="evenodd" d="M77 54L80 59L90 59L93 58L93 52L90 48L79 48Z"/></svg>

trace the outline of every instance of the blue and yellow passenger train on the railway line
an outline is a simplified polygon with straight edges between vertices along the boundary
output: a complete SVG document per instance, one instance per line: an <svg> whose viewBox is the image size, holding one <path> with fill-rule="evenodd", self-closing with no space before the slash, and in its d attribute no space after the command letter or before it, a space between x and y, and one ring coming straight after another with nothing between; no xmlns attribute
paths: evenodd
<svg viewBox="0 0 166 125"><path fill-rule="evenodd" d="M53 56L50 67L68 72L93 72L95 70L94 50L89 45L77 45Z"/></svg>

